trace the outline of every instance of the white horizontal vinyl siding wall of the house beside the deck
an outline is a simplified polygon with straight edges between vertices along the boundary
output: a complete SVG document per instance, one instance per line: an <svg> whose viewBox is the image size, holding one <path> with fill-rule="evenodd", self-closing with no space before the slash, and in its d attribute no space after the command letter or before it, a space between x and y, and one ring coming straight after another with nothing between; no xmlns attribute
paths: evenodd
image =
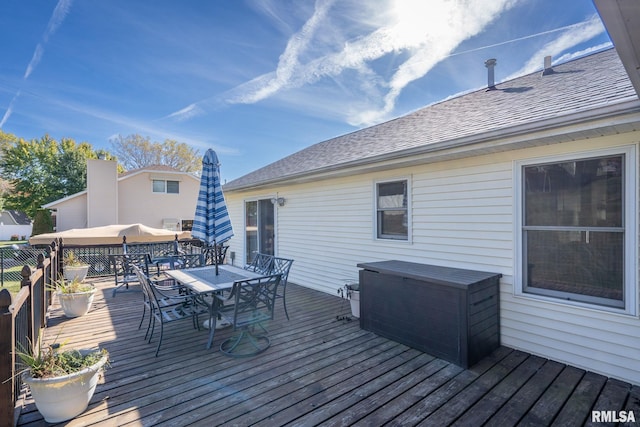
<svg viewBox="0 0 640 427"><path fill-rule="evenodd" d="M286 198L286 205L276 209L276 254L295 260L290 282L337 297L345 280L358 277L358 263L390 259L500 273L503 345L640 384L637 316L515 292L513 172L514 162L623 146L639 137L594 137L226 196L238 231L245 199L276 194ZM372 239L371 183L403 176L411 177L412 240ZM637 221L637 205L633 209ZM230 250L240 254L242 245L236 233Z"/></svg>

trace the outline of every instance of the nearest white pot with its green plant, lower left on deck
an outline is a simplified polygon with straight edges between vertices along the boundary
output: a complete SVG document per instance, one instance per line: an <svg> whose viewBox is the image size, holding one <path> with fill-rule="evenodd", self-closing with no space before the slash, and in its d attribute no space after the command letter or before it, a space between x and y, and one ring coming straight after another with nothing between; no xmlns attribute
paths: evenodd
<svg viewBox="0 0 640 427"><path fill-rule="evenodd" d="M24 370L22 379L31 390L45 421L59 423L87 409L100 374L109 361L105 349L65 350L53 344L16 353Z"/></svg>

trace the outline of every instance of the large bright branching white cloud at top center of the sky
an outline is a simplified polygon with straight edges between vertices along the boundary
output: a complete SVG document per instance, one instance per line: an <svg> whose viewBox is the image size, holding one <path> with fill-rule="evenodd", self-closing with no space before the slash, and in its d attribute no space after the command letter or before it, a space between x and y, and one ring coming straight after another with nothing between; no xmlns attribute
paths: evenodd
<svg viewBox="0 0 640 427"><path fill-rule="evenodd" d="M304 63L302 58L308 56L314 36L330 26L333 1L319 1L313 16L290 38L276 70L236 87L228 94L228 101L255 103L279 91L336 78L352 70L376 82L368 88L370 93L382 91L386 95L377 109L352 110L354 114L348 121L353 125L375 123L393 111L397 97L409 83L427 74L462 41L481 32L513 4L512 0L395 0L380 12L385 14L387 24ZM386 81L373 72L371 64L389 55L406 59Z"/></svg>

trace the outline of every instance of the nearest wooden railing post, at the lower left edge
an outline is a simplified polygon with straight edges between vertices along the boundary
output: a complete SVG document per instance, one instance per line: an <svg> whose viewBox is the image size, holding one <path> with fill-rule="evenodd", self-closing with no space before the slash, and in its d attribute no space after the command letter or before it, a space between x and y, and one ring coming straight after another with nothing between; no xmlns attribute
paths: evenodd
<svg viewBox="0 0 640 427"><path fill-rule="evenodd" d="M15 336L10 305L11 293L8 289L0 290L0 419L7 420L7 425L14 425L13 367L16 356L13 351Z"/></svg>

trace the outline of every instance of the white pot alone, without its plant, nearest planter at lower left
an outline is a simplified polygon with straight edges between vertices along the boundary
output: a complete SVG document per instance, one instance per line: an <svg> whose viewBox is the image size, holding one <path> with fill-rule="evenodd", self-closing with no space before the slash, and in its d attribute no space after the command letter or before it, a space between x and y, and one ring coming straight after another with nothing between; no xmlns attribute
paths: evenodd
<svg viewBox="0 0 640 427"><path fill-rule="evenodd" d="M107 356L104 356L98 363L82 371L55 378L33 378L26 372L23 381L29 385L36 408L45 421L59 423L87 409L106 362Z"/></svg>

